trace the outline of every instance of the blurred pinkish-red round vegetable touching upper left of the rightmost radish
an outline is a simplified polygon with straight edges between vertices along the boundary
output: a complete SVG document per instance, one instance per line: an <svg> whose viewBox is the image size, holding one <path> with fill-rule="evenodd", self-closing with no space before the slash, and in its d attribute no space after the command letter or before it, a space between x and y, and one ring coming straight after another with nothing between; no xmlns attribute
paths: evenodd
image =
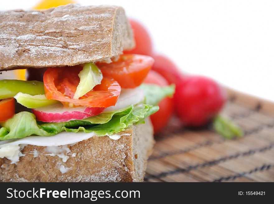
<svg viewBox="0 0 274 204"><path fill-rule="evenodd" d="M152 70L161 74L169 84L177 84L182 80L182 74L178 70L177 66L167 57L163 55L152 55L155 60Z"/></svg>

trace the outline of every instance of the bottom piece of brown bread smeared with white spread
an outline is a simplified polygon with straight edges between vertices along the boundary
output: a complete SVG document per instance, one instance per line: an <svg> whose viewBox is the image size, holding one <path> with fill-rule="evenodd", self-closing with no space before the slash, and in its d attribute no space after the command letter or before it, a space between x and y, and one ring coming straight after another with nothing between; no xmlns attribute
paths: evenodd
<svg viewBox="0 0 274 204"><path fill-rule="evenodd" d="M154 144L151 122L119 134L117 140L93 136L58 147L26 145L16 164L0 158L0 181L142 182Z"/></svg>

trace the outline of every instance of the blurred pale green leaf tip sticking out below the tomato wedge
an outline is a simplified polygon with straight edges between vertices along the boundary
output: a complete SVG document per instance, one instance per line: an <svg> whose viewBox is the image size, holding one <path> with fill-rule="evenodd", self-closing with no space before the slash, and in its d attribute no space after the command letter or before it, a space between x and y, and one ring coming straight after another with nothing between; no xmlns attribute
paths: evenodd
<svg viewBox="0 0 274 204"><path fill-rule="evenodd" d="M144 90L145 103L149 105L158 105L165 97L172 97L175 92L175 85L159 86L154 84L142 84L140 86Z"/></svg>

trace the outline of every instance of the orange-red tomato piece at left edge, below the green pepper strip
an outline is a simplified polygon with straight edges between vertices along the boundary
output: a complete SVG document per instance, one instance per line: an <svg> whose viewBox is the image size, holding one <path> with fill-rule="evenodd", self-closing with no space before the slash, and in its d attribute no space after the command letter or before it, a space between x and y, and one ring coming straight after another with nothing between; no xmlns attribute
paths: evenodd
<svg viewBox="0 0 274 204"><path fill-rule="evenodd" d="M10 119L15 114L14 98L0 100L0 121Z"/></svg>

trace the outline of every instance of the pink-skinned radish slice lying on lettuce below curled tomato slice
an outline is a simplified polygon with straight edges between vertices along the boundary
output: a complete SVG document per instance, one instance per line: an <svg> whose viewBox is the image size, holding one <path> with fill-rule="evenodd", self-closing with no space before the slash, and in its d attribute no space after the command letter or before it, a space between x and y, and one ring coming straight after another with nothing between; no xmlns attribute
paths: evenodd
<svg viewBox="0 0 274 204"><path fill-rule="evenodd" d="M100 114L105 108L76 107L64 108L62 104L53 104L41 108L32 109L36 120L42 122L66 122L70 120L81 120L90 116Z"/></svg>

